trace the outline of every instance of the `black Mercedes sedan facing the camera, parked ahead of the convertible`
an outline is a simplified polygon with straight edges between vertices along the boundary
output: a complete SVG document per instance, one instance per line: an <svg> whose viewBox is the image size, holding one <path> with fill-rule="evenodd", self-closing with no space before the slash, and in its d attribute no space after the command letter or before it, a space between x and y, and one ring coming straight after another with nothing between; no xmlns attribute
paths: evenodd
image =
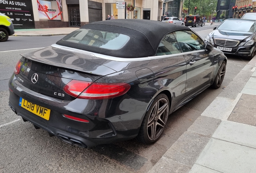
<svg viewBox="0 0 256 173"><path fill-rule="evenodd" d="M248 19L226 19L213 28L206 41L211 41L225 54L234 54L251 60L256 49L256 23Z"/></svg>

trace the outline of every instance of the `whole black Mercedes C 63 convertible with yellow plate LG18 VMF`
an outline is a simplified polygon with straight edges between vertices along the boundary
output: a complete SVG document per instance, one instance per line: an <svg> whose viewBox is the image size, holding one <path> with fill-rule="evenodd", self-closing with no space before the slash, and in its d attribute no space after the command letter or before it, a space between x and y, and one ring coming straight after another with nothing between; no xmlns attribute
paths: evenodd
<svg viewBox="0 0 256 173"><path fill-rule="evenodd" d="M21 55L9 106L79 147L159 139L168 116L209 86L227 58L186 26L152 20L93 22Z"/></svg>

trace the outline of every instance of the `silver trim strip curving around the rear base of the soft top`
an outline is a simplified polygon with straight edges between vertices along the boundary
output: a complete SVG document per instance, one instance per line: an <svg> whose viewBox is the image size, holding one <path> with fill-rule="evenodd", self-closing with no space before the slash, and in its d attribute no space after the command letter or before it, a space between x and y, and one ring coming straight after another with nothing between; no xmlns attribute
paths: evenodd
<svg viewBox="0 0 256 173"><path fill-rule="evenodd" d="M62 50L67 50L67 51L70 51L70 52L77 52L77 53L80 53L80 54L86 54L86 55L94 56L94 57L97 57L97 58L103 58L103 59L107 59L107 60L114 60L114 61L120 61L120 62L137 62L137 61L150 60L149 57L120 58L120 57L108 56L108 55L98 54L98 53L94 53L94 52L89 52L89 51L86 51L86 50L80 50L80 49L76 49L76 48L61 46L61 45L58 45L58 44L52 44L51 46L54 47L54 48L60 48Z"/></svg>

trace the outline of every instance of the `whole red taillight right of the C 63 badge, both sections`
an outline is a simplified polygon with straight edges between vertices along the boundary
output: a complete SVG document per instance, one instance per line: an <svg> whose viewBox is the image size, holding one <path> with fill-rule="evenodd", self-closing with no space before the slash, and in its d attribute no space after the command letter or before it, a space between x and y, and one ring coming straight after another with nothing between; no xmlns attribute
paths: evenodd
<svg viewBox="0 0 256 173"><path fill-rule="evenodd" d="M78 99L111 99L124 95L131 87L127 83L91 83L71 80L63 90Z"/></svg>

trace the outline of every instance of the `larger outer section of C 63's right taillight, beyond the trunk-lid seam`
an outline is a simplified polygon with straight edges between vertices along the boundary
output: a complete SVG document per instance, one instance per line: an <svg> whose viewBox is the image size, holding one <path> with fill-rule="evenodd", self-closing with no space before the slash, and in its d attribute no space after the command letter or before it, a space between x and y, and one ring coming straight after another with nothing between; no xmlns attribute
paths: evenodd
<svg viewBox="0 0 256 173"><path fill-rule="evenodd" d="M110 99L127 93L130 89L127 83L97 83L91 84L81 95L79 99Z"/></svg>

